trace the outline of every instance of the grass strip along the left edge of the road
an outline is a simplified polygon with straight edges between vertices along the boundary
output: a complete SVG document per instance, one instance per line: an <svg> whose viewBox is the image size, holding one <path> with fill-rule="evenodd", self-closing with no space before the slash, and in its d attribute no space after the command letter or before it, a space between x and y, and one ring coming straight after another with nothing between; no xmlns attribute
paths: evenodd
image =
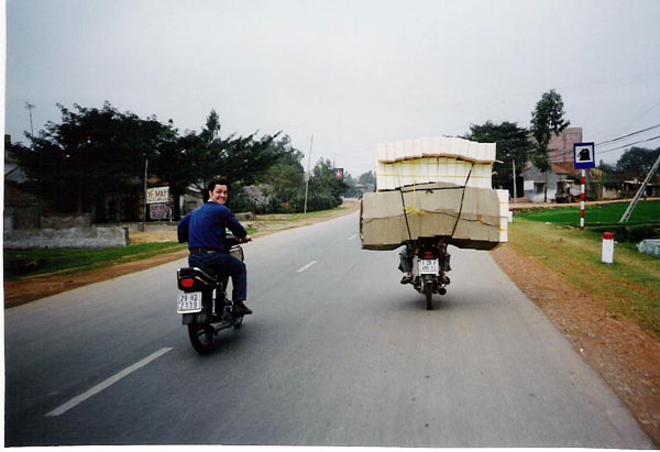
<svg viewBox="0 0 660 452"><path fill-rule="evenodd" d="M89 249L46 249L46 250L3 250L4 280L15 280L23 276L43 275L80 268L96 269L124 264L166 252L183 250L176 242L140 243L129 246Z"/></svg>

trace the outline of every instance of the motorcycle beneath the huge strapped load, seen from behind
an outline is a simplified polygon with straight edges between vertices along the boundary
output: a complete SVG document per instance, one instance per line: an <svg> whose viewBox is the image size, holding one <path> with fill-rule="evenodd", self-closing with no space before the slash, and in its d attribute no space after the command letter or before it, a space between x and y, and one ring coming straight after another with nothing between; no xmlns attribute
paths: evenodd
<svg viewBox="0 0 660 452"><path fill-rule="evenodd" d="M415 243L413 287L425 296L427 310L433 309L433 294L447 294L450 258L441 238L420 238Z"/></svg>

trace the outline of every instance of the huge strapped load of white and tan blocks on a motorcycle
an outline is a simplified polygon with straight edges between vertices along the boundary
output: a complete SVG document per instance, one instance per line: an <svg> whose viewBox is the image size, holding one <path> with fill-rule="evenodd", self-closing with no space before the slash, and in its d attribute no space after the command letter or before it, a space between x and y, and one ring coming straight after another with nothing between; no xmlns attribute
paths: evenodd
<svg viewBox="0 0 660 452"><path fill-rule="evenodd" d="M458 137L378 145L377 191L362 199L365 250L393 250L420 236L491 250L507 241L508 191L492 188L495 143Z"/></svg>

